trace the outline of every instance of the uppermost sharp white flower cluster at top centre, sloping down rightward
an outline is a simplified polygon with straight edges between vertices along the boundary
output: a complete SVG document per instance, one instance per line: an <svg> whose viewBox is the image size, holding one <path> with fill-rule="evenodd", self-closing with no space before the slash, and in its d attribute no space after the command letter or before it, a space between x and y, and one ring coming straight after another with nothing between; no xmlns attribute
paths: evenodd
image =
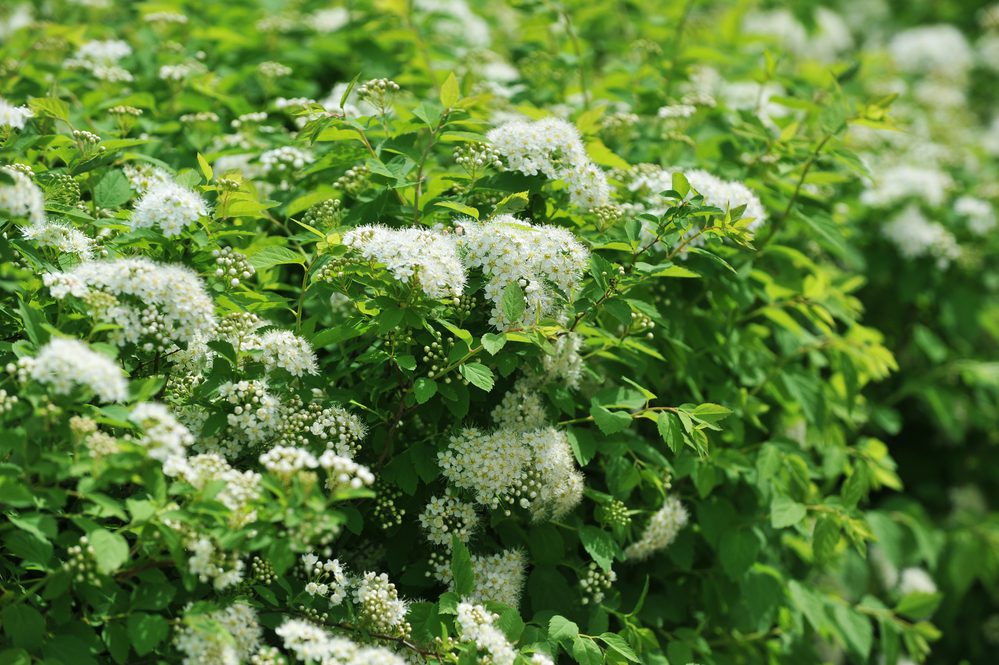
<svg viewBox="0 0 999 665"><path fill-rule="evenodd" d="M590 161L579 131L565 120L515 120L491 130L486 138L506 157L510 169L565 181L573 205L589 209L610 200L607 177Z"/></svg>

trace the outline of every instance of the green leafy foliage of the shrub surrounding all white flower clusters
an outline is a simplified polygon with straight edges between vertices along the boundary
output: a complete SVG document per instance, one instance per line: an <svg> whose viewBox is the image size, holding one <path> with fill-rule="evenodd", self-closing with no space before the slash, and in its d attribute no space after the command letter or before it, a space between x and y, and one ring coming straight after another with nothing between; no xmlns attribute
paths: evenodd
<svg viewBox="0 0 999 665"><path fill-rule="evenodd" d="M317 389L322 405L362 419L357 459L378 482L323 493L265 474L258 520L233 528L219 486L176 482L129 444L139 429L128 414L154 398L178 413L207 405L198 435L216 434L218 387L262 377L259 358L223 343L192 371L117 348L85 306L55 300L42 283L77 259L23 238L23 220L8 219L3 363L36 355L50 337L77 337L117 357L131 393L127 405L102 406L3 380L19 399L0 414L0 662L180 662L175 636L234 600L256 608L274 645L284 618L322 611L340 634L417 662L476 662L484 656L459 639L456 604L482 582L471 555L510 548L526 555L524 592L517 607L491 607L524 662L533 653L579 663L989 662L999 640L999 252L994 231L970 233L954 201L999 196L988 152L995 22L976 3L829 6L849 43L823 41L828 24L805 2L358 1L333 30L317 29L315 12L328 7L312 2L5 6L0 94L35 115L7 133L3 161L30 166L49 217L98 239L102 257L185 264L220 318L252 312L307 339L319 373L271 377L271 389L281 400ZM163 11L188 20L143 19ZM766 11L783 18L752 20ZM766 29L788 14L804 41ZM978 49L960 76L912 72L887 52L896 33L939 22ZM85 41L110 38L130 43L133 81L64 65ZM266 62L289 71L268 75ZM163 80L161 67L178 64L190 65L184 77ZM719 74L707 90L705 67ZM337 117L381 77L401 88L391 113ZM965 102L927 103L927 81ZM715 103L659 117L695 92ZM121 105L142 113L109 113ZM268 114L259 125L231 124L257 111ZM515 113L570 119L615 203L655 200L666 212L596 214L543 176L471 174L456 162L456 148ZM920 144L947 155L944 199L915 191L870 204L864 193L890 165L925 163ZM282 146L314 161L261 168L260 156ZM210 215L179 237L133 229L138 192L123 168L136 164L172 172ZM748 234L738 210L691 199L687 178L663 197L632 191L641 164L745 182L768 219ZM907 258L886 239L888 220L912 203L956 237L959 258ZM503 213L570 229L590 251L563 318L497 331L480 277L458 305L435 301L343 244L367 223L452 227L461 215ZM706 220L715 227L706 242L685 246L683 233ZM649 228L660 240L651 246ZM213 277L222 247L254 268L237 287ZM519 302L514 290L503 306L517 314ZM534 388L569 437L585 498L542 523L484 513L467 550L448 555L452 587L435 582L427 573L440 550L416 516L443 491L437 453L460 427L490 428L493 408L570 332L581 339L579 384L542 372ZM435 342L443 356L426 360ZM191 375L203 380L179 389ZM89 457L74 415L119 439L120 452ZM240 463L259 470L254 456ZM666 496L686 506L688 525L654 557L626 561ZM615 502L630 526L609 517ZM244 583L218 592L193 575L176 523L245 560ZM335 539L320 542L324 533ZM82 535L95 577L80 582L66 562ZM296 562L313 547L358 573L388 573L413 601L408 635L382 635L353 608L305 593ZM591 563L616 581L584 603L579 580ZM254 564L273 576L251 576ZM893 581L912 568L936 590ZM455 641L434 641L442 636Z"/></svg>

